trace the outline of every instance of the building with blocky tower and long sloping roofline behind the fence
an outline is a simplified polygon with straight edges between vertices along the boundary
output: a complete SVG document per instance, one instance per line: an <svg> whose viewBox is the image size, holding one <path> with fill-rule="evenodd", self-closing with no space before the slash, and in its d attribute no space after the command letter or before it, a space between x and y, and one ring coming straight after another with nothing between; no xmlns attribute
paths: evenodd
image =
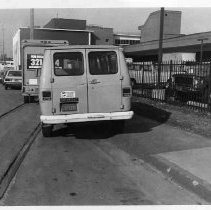
<svg viewBox="0 0 211 210"><path fill-rule="evenodd" d="M149 15L141 29L140 44L124 47L127 57L134 61L157 61L159 46L160 11ZM195 53L196 61L200 60L201 39L203 42L203 60L211 59L211 32L181 34L181 12L165 11L163 53Z"/></svg>

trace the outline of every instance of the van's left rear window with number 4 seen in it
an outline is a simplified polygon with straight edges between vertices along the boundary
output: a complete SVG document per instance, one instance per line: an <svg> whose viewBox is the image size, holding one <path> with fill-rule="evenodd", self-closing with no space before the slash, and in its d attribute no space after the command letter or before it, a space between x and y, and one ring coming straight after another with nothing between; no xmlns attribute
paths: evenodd
<svg viewBox="0 0 211 210"><path fill-rule="evenodd" d="M56 76L83 75L84 64L81 52L63 52L54 54L54 74Z"/></svg>

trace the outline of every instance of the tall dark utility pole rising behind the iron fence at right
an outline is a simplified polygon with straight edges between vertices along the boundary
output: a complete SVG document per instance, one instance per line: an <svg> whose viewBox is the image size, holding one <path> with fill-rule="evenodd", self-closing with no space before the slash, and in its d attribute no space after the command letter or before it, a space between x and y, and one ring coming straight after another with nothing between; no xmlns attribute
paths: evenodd
<svg viewBox="0 0 211 210"><path fill-rule="evenodd" d="M163 25L164 25L164 7L161 7L159 50L158 50L158 85L160 85L161 63L162 63L162 57L163 57Z"/></svg>

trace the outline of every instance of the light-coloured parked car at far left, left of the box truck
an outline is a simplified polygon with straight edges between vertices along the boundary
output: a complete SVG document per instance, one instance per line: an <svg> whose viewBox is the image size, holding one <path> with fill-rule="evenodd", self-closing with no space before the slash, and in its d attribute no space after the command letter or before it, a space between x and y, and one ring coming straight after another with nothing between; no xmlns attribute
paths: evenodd
<svg viewBox="0 0 211 210"><path fill-rule="evenodd" d="M22 87L22 72L19 70L9 70L4 78L4 87L21 88Z"/></svg>

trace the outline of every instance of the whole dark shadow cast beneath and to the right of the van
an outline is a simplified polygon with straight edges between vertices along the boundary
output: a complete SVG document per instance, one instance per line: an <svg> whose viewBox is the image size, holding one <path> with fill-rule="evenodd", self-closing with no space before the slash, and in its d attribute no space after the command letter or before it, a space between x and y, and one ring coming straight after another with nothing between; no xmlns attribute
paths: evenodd
<svg viewBox="0 0 211 210"><path fill-rule="evenodd" d="M151 131L154 127L165 123L171 113L153 106L134 102L132 110L135 115L131 120L126 120L124 131L119 132L115 129L115 123L109 121L75 123L70 126L56 127L53 131L53 137L74 136L77 139L108 139L118 134L145 133ZM140 118L140 116L151 118L156 121Z"/></svg>

